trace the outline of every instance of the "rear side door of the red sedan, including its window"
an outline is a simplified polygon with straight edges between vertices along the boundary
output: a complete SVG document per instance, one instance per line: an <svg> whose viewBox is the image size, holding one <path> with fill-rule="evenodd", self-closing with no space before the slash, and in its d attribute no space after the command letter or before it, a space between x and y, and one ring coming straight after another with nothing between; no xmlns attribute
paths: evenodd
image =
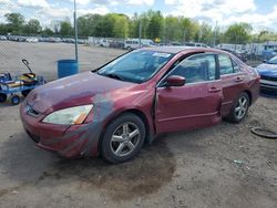
<svg viewBox="0 0 277 208"><path fill-rule="evenodd" d="M240 71L237 63L226 54L218 54L220 83L223 87L222 115L228 115L234 101L244 89L246 74Z"/></svg>

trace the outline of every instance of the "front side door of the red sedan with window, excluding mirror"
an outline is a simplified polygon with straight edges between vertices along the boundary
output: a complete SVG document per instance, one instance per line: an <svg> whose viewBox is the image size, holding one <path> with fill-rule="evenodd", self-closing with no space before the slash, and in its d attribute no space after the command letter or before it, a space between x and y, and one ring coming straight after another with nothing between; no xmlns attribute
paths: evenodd
<svg viewBox="0 0 277 208"><path fill-rule="evenodd" d="M222 87L214 54L195 54L177 64L156 87L157 133L193 129L220 121ZM166 77L186 79L183 86L166 86Z"/></svg>

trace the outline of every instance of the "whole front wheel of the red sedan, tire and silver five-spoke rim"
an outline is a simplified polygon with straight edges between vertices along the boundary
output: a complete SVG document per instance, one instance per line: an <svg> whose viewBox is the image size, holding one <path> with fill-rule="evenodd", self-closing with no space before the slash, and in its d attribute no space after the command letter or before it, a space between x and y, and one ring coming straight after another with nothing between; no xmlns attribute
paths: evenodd
<svg viewBox="0 0 277 208"><path fill-rule="evenodd" d="M117 164L136 156L145 141L145 126L142 119L132 113L126 113L105 129L101 143L101 156L104 160Z"/></svg>

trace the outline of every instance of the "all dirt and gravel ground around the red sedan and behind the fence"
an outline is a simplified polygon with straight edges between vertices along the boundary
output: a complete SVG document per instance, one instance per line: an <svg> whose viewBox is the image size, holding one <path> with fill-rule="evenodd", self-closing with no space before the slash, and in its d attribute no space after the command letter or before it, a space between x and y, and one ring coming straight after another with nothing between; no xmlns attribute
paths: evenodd
<svg viewBox="0 0 277 208"><path fill-rule="evenodd" d="M81 70L124 51L81 46ZM0 42L1 71L55 79L55 61L71 44ZM277 207L277 141L250 133L277 129L277 100L260 97L239 125L160 136L135 159L109 165L99 158L65 160L37 148L19 119L19 106L0 105L0 207Z"/></svg>

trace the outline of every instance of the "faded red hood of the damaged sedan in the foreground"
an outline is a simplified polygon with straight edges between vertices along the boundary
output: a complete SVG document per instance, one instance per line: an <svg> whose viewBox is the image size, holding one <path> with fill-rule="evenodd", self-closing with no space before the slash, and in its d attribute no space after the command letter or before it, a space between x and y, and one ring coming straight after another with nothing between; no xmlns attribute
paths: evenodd
<svg viewBox="0 0 277 208"><path fill-rule="evenodd" d="M93 103L99 94L126 90L136 84L84 72L40 86L28 95L27 103L35 111L49 114L53 111Z"/></svg>

